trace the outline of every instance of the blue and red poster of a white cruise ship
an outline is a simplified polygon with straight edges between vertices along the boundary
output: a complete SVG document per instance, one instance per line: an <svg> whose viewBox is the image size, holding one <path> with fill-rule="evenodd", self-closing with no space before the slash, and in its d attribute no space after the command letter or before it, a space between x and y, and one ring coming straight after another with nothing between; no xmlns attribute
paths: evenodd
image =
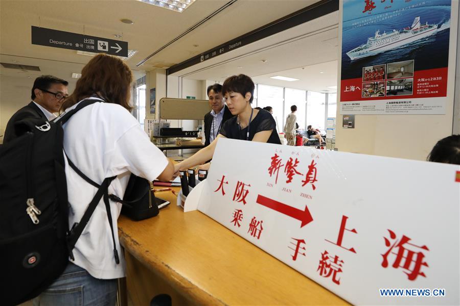
<svg viewBox="0 0 460 306"><path fill-rule="evenodd" d="M344 0L341 114L445 114L451 0Z"/></svg>

